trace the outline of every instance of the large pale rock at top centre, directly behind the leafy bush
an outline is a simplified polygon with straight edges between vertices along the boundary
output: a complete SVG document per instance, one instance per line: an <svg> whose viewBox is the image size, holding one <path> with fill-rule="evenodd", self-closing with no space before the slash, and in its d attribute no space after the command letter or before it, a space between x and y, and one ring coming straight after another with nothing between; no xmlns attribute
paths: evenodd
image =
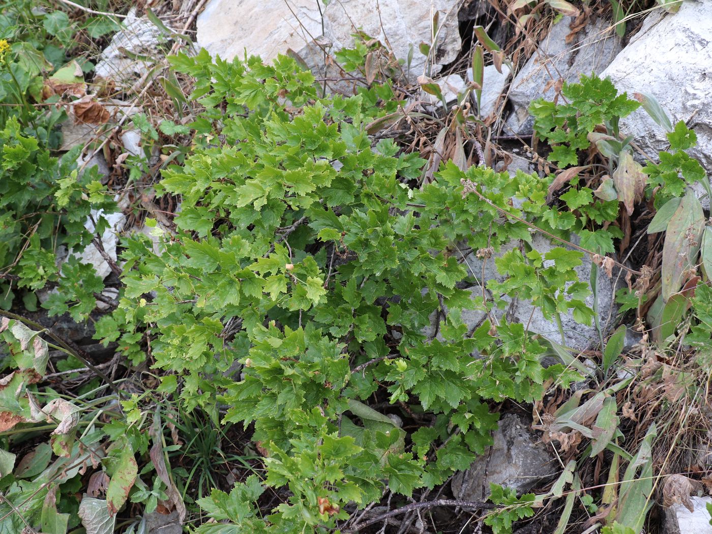
<svg viewBox="0 0 712 534"><path fill-rule="evenodd" d="M198 17L197 41L223 59L242 57L247 51L248 56L269 62L291 49L310 67L323 68L323 51L315 43L333 53L353 46L352 34L361 30L389 45L399 59L405 60L412 50L409 77L414 79L423 73L426 60L419 45L431 41L431 5L439 11L441 30L430 75L456 58L461 46L457 4L456 0L340 0L321 6L320 12L315 0L211 0Z"/></svg>

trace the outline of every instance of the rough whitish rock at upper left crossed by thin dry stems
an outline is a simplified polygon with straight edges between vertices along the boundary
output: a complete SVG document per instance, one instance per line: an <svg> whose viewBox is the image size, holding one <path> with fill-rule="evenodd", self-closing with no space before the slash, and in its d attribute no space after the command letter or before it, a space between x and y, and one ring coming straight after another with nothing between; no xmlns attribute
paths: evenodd
<svg viewBox="0 0 712 534"><path fill-rule="evenodd" d="M136 10L131 9L125 26L115 33L109 46L101 53L100 61L94 68L95 80L112 81L117 86L128 88L136 80L145 75L155 64L132 56L156 58L159 44L165 40L162 30L155 26L147 17L137 17Z"/></svg>

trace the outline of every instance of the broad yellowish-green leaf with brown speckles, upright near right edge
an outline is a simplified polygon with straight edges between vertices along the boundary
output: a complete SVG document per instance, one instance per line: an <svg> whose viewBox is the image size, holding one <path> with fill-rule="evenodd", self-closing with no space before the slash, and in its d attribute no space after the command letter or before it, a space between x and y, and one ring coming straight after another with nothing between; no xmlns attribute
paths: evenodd
<svg viewBox="0 0 712 534"><path fill-rule="evenodd" d="M685 271L696 265L704 224L702 204L688 189L665 234L661 274L665 302L682 287Z"/></svg>

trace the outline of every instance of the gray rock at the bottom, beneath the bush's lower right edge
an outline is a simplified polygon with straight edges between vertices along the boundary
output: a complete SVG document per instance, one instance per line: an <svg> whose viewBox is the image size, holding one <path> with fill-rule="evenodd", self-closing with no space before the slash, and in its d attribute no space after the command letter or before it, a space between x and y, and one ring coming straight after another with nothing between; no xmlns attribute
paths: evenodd
<svg viewBox="0 0 712 534"><path fill-rule="evenodd" d="M513 488L521 494L543 478L555 475L557 462L528 426L517 415L506 414L494 431L494 445L478 456L467 471L454 476L454 495L464 501L482 501L490 494L490 483Z"/></svg>

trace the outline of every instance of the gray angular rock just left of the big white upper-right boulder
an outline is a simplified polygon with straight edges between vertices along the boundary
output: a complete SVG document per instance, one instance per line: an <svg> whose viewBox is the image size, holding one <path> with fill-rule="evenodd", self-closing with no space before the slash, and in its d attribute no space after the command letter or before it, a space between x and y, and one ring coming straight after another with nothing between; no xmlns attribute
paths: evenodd
<svg viewBox="0 0 712 534"><path fill-rule="evenodd" d="M564 17L556 23L512 80L508 98L514 111L507 125L518 135L532 133L529 104L541 97L551 100L556 80L577 82L581 74L600 73L621 50L620 38L604 19L590 23L575 34L574 41L566 43L572 20Z"/></svg>

